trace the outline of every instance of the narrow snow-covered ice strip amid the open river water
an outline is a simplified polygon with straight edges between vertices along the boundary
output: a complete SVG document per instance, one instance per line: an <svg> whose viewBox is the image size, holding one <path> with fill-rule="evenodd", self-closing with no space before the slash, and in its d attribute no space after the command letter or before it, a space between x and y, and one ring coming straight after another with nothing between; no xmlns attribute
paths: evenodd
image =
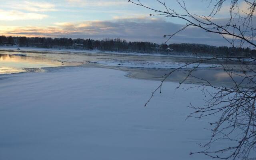
<svg viewBox="0 0 256 160"><path fill-rule="evenodd" d="M90 63L103 64L106 66L116 66L116 67L129 67L129 68L158 68L158 69L175 69L185 66L184 62L160 62L160 61L141 61L141 60L108 60L108 61L96 61ZM214 68L220 65L217 64L200 64L198 63L189 64L188 66L182 68Z"/></svg>

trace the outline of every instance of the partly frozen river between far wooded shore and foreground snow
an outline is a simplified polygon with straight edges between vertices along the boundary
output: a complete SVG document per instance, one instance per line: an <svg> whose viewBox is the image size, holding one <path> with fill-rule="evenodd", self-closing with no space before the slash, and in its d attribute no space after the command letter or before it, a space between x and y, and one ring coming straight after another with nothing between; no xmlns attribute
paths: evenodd
<svg viewBox="0 0 256 160"><path fill-rule="evenodd" d="M58 69L54 67L84 66L124 70L128 72L126 76L132 78L162 80L162 76L168 74L174 68L196 60L200 59L194 57L102 53L95 51L0 50L0 74L50 72ZM208 61L207 64L200 64L200 68L195 70L193 75L207 79L214 84L228 85L231 83L230 77L221 69L221 63L228 64L240 74L239 66L235 62L212 60ZM180 69L174 72L167 80L179 82L186 76L188 70L195 66L197 64ZM239 81L241 77L234 76L234 79ZM190 77L187 82L198 82L198 80Z"/></svg>

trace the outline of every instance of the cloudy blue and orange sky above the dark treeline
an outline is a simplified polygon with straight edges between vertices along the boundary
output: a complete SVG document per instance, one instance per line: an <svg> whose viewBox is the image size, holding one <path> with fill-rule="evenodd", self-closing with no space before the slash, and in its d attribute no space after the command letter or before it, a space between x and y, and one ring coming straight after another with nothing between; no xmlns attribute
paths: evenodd
<svg viewBox="0 0 256 160"><path fill-rule="evenodd" d="M141 0L148 6L164 9L156 0ZM209 0L185 0L188 10L208 15ZM166 4L178 12L176 0ZM228 4L227 4L228 6ZM228 17L228 8L215 17ZM163 36L184 26L184 22L162 16L149 16L152 11L128 0L0 0L0 34L66 38L122 38L128 41L166 42ZM168 43L202 43L216 46L228 43L216 34L188 28Z"/></svg>

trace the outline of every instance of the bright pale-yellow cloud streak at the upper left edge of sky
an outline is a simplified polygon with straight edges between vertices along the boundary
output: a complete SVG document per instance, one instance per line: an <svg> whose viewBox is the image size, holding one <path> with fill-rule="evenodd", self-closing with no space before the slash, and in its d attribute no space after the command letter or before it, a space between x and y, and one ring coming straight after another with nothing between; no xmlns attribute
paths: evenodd
<svg viewBox="0 0 256 160"><path fill-rule="evenodd" d="M0 10L0 20L13 21L13 20L41 20L46 18L45 14L25 13L17 10Z"/></svg>

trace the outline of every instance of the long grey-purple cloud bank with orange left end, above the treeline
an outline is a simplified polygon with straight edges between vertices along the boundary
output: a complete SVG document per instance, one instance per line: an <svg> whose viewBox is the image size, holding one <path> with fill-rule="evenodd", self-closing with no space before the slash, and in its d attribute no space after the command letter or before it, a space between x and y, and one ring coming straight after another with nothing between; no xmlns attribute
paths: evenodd
<svg viewBox="0 0 256 160"><path fill-rule="evenodd" d="M14 27L0 29L0 34L47 36L67 38L122 38L130 41L150 41L163 43L165 34L172 34L182 28L181 24L166 22L164 19L155 18L118 18L110 21L84 21L78 23L59 22L54 26L38 27ZM202 43L210 45L228 45L218 34L204 32L200 28L189 27L174 36L169 43Z"/></svg>

